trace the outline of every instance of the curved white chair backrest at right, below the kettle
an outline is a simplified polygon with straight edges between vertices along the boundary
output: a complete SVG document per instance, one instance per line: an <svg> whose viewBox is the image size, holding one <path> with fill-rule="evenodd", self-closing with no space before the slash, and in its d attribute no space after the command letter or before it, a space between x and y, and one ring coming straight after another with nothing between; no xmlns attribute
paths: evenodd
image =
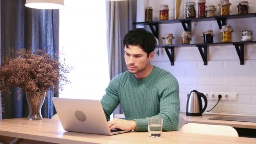
<svg viewBox="0 0 256 144"><path fill-rule="evenodd" d="M186 133L200 133L200 134L211 134L221 136L236 136L238 133L235 128L227 125L208 125L199 123L188 123L183 125L179 130Z"/></svg>

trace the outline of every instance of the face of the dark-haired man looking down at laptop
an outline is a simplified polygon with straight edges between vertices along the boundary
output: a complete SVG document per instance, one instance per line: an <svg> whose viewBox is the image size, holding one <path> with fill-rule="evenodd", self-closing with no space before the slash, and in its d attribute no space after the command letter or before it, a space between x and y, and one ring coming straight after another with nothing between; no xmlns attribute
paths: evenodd
<svg viewBox="0 0 256 144"><path fill-rule="evenodd" d="M129 71L133 74L143 72L149 66L149 62L153 59L154 52L147 56L140 46L129 45L129 48L125 45L125 63Z"/></svg>

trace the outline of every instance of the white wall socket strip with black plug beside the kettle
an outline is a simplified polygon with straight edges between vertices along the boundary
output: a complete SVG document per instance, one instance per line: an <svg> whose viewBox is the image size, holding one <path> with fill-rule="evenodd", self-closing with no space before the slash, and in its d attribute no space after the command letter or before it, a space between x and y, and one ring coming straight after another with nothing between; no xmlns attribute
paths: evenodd
<svg viewBox="0 0 256 144"><path fill-rule="evenodd" d="M238 93L227 92L204 92L208 101L218 101L218 96L221 95L220 101L238 101Z"/></svg>

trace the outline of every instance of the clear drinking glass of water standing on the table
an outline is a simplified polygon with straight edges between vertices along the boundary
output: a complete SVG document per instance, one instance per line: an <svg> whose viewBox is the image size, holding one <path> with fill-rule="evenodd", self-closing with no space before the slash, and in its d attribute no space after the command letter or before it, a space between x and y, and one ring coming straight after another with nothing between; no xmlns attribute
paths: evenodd
<svg viewBox="0 0 256 144"><path fill-rule="evenodd" d="M163 118L162 117L149 117L147 119L149 136L150 137L160 137L163 128Z"/></svg>

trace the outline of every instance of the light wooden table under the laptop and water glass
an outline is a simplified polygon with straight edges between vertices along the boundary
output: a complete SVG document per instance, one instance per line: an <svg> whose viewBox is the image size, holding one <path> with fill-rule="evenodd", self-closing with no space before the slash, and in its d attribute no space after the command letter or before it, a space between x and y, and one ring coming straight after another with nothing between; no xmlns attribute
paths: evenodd
<svg viewBox="0 0 256 144"><path fill-rule="evenodd" d="M161 138L151 138L147 132L129 132L113 136L64 131L59 120L27 120L27 118L0 121L0 135L59 144L255 144L256 139L213 136L177 131L163 132ZM38 144L38 143L37 143Z"/></svg>

